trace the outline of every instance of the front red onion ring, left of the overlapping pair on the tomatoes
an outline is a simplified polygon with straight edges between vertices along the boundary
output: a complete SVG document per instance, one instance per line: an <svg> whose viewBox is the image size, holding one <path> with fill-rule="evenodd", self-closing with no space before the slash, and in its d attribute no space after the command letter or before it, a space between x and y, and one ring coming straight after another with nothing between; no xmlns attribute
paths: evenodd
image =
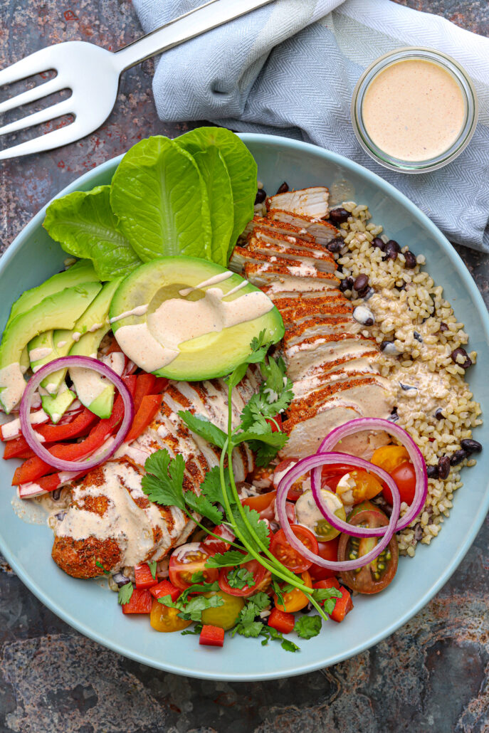
<svg viewBox="0 0 489 733"><path fill-rule="evenodd" d="M361 465L361 468L364 467L364 463L367 463L367 461L364 461L361 458L357 458L354 456L351 456L351 458L356 462L359 462L358 465ZM348 459L350 460L350 457L348 457ZM382 474L385 474L386 478L389 479L389 481L387 481L386 479L384 480L386 480L386 483L388 483L389 489L392 492L393 505L391 517L389 518L389 524L385 528L385 534L383 535L382 539L380 539L380 541L377 543L377 545L375 545L375 548L373 548L373 550L370 550L370 552L368 552L366 555L357 558L356 560L345 561L325 560L306 548L301 540L295 537L295 534L290 528L286 509L287 493L290 487L297 481L297 479L299 479L304 474L309 473L309 471L320 467L322 468L323 465L328 465L329 463L342 463L343 461L345 461L345 453L333 452L327 454L318 452L315 455L301 459L298 463L295 464L295 466L293 466L293 468L290 468L289 471L287 471L287 474L282 477L279 482L279 487L277 488L276 495L276 508L279 515L279 522L290 545L292 545L293 548L297 550L298 553L301 553L301 555L307 560L317 565L320 565L320 567L326 567L328 568L328 570L337 570L339 572L343 572L345 570L356 570L357 567L363 567L364 565L369 564L369 562L375 560L375 558L380 555L382 550L384 550L391 541L391 537L394 534L396 523L399 518L400 510L400 495L397 485L395 484L394 480L391 479L391 476L386 473L386 471L383 471L382 468L379 468L379 475L381 475L380 472L382 472ZM319 509L324 514L321 506L322 505L318 504ZM335 517L335 519L339 521L337 517ZM330 521L329 518L328 521ZM351 524L344 524L346 526L345 532L348 532L348 534L353 534L351 530L356 531L358 529L358 527L353 527ZM379 536L378 530L380 530L380 527L375 528L374 537ZM372 529L370 529L369 531L372 531Z"/></svg>

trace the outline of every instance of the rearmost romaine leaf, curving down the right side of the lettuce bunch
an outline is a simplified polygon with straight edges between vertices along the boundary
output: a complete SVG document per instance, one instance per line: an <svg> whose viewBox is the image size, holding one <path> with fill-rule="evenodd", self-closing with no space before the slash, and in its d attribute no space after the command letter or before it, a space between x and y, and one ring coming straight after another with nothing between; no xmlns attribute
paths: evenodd
<svg viewBox="0 0 489 733"><path fill-rule="evenodd" d="M229 259L236 240L253 218L254 199L257 195L257 163L246 145L226 128L196 128L181 135L175 142L192 155L215 146L224 158L231 180L234 206L234 224L227 250Z"/></svg>

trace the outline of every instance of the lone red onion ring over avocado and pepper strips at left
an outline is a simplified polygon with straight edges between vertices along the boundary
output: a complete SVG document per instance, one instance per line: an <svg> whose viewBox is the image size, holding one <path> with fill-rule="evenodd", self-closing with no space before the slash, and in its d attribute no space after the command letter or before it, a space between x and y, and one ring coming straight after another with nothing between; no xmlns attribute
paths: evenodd
<svg viewBox="0 0 489 733"><path fill-rule="evenodd" d="M117 389L122 397L122 402L124 403L124 417L122 418L122 423L117 431L117 435L115 435L114 441L109 443L109 448L106 447L106 449L101 453L95 454L92 458L87 458L81 461L62 460L61 458L56 458L56 456L49 453L37 439L36 433L32 428L31 421L29 419L32 399L43 379L53 372L57 372L59 369L69 369L70 367L93 369L94 372L98 372L98 374L106 377ZM48 364L45 364L44 367L41 367L39 371L29 379L29 382L26 384L26 388L23 391L19 417L21 419L21 430L27 443L29 443L29 448L31 448L38 457L45 461L45 463L52 465L58 471L87 471L89 468L95 468L95 466L106 461L122 445L125 436L128 435L130 426L133 424L134 402L130 391L125 386L125 383L119 375L114 372L114 369L111 369L106 364L103 364L103 362L98 361L98 359L92 358L91 356L62 356L59 359L54 359L54 361L50 361Z"/></svg>

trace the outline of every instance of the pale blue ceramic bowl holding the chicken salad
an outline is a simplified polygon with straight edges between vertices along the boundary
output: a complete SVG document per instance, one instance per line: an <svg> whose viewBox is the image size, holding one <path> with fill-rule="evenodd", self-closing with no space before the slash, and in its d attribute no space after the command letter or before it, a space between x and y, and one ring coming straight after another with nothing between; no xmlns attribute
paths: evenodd
<svg viewBox="0 0 489 733"><path fill-rule="evenodd" d="M309 144L266 135L243 135L268 191L284 181L294 188L326 184L337 201L369 205L373 221L386 233L424 254L435 281L445 288L458 320L467 324L478 365L468 372L482 406L489 405L489 318L474 281L460 257L436 226L389 183L340 155ZM60 195L109 183L119 158L85 174ZM40 284L62 266L65 254L41 226L45 210L34 216L0 262L0 328L18 295ZM488 445L489 424L477 430ZM0 549L26 586L51 611L78 631L115 652L155 668L208 679L273 679L302 674L358 654L405 624L446 583L476 537L489 508L489 452L465 469L452 515L433 545L418 545L413 559L402 558L394 581L373 597L356 597L355 610L341 625L323 624L320 637L301 641L301 652L285 652L278 643L227 638L224 649L199 647L195 636L156 633L147 617L123 616L115 594L99 581L69 578L51 560L53 536L45 524L18 516L19 501L10 487L12 462L1 463ZM14 512L15 506L17 512Z"/></svg>

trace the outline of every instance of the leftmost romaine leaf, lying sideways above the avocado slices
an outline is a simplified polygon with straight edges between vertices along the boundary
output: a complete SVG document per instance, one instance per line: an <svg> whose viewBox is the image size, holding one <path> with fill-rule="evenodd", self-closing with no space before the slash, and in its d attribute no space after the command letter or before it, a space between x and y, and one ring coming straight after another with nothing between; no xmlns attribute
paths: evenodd
<svg viewBox="0 0 489 733"><path fill-rule="evenodd" d="M117 228L109 204L110 186L73 191L56 199L46 211L43 226L65 252L91 259L101 280L128 275L141 260Z"/></svg>

